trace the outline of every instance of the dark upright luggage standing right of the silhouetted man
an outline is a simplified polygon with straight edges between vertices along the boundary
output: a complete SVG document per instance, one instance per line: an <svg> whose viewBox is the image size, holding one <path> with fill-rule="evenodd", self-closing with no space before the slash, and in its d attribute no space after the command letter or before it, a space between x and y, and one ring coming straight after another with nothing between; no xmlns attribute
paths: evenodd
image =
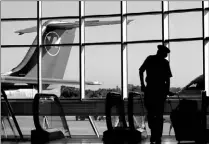
<svg viewBox="0 0 209 144"><path fill-rule="evenodd" d="M198 110L197 101L179 99L179 105L172 109L170 119L179 143L201 140L201 112Z"/></svg>

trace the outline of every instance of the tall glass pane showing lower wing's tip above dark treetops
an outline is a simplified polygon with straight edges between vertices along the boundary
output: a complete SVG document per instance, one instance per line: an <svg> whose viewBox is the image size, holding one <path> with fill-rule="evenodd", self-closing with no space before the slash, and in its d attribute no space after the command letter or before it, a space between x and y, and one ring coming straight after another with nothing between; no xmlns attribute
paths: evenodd
<svg viewBox="0 0 209 144"><path fill-rule="evenodd" d="M86 85L86 98L104 98L109 90L120 90L120 50L120 45L85 47L85 81L99 81L102 83L102 85Z"/></svg>

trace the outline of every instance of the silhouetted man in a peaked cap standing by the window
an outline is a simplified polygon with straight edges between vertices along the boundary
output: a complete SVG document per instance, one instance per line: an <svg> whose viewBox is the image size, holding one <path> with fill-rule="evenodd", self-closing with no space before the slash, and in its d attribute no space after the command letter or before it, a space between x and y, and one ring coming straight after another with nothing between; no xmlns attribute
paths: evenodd
<svg viewBox="0 0 209 144"><path fill-rule="evenodd" d="M169 62L165 59L170 50L163 45L157 47L157 54L148 56L139 68L141 90L144 92L144 104L148 112L147 119L151 130L150 142L156 142L156 144L161 143L164 103L169 94L170 77L172 77Z"/></svg>

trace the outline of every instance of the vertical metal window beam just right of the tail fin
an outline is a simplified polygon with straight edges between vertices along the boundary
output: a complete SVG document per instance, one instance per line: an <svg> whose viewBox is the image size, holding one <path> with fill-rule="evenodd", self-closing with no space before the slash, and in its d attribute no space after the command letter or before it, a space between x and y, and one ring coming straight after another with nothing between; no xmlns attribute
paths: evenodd
<svg viewBox="0 0 209 144"><path fill-rule="evenodd" d="M80 40L80 99L85 98L85 1L79 1L79 40Z"/></svg>

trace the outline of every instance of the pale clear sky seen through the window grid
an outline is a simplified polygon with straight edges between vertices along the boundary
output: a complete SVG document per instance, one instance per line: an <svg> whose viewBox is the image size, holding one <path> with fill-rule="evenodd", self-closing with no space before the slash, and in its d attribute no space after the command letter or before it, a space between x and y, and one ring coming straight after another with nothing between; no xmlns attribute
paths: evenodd
<svg viewBox="0 0 209 144"><path fill-rule="evenodd" d="M170 9L200 8L201 1L171 1ZM78 1L43 1L42 16L78 16ZM127 12L160 11L160 1L128 1ZM1 18L36 17L36 1L3 1ZM120 1L86 1L85 14L120 13ZM97 20L91 18L89 20ZM120 20L120 18L100 18L99 20ZM161 39L161 15L130 16L133 20L127 27L127 40ZM171 14L169 16L170 38L202 36L201 12ZM68 20L78 21L78 20ZM32 44L36 33L17 35L16 30L32 27L36 21L2 22L1 44ZM120 41L120 25L90 27L85 29L86 42ZM76 30L75 43L79 42L79 31ZM157 45L128 45L128 83L140 85L138 69L150 54L156 54ZM170 43L170 67L173 74L171 86L183 87L192 79L203 73L202 41ZM17 66L28 48L1 48L1 73ZM90 89L121 87L121 53L120 45L87 46L85 49L86 80L100 81L100 86L88 86ZM64 79L79 80L79 47L74 46Z"/></svg>

